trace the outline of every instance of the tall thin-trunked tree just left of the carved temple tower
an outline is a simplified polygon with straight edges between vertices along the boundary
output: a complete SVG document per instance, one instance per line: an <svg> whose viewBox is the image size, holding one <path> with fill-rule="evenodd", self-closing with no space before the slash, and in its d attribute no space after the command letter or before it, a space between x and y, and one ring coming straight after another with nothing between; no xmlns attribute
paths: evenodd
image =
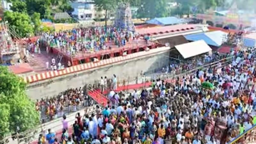
<svg viewBox="0 0 256 144"><path fill-rule="evenodd" d="M115 0L94 0L94 3L98 10L104 10L105 11L105 26L107 26L107 16L108 16L108 10L111 10L116 5Z"/></svg>

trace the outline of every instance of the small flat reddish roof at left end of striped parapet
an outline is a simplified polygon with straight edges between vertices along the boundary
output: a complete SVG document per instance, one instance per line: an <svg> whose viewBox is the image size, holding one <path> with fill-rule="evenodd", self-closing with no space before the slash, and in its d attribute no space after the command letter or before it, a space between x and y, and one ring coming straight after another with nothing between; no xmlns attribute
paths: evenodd
<svg viewBox="0 0 256 144"><path fill-rule="evenodd" d="M10 71L12 71L15 74L33 72L34 71L34 69L28 63L12 65L12 66L9 66L8 68L9 68Z"/></svg>

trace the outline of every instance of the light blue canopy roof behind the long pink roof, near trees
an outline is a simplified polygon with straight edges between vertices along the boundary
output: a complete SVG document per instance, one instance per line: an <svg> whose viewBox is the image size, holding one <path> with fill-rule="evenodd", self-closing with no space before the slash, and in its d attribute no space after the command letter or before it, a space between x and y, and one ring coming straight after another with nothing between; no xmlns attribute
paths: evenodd
<svg viewBox="0 0 256 144"><path fill-rule="evenodd" d="M146 21L148 24L155 24L155 25L176 25L176 24L181 24L183 21L181 19L178 19L176 17L164 17L164 18L155 18L155 19L150 19Z"/></svg>

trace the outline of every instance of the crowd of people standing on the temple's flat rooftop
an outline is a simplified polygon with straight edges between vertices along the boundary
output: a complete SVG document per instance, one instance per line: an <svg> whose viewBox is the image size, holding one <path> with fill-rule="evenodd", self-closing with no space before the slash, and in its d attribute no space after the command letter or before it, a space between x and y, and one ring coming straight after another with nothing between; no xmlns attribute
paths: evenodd
<svg viewBox="0 0 256 144"><path fill-rule="evenodd" d="M75 55L79 51L98 51L111 49L114 45L124 46L127 42L135 41L135 39L138 42L140 35L134 29L91 27L45 33L43 36L51 47L60 48L69 55Z"/></svg>

